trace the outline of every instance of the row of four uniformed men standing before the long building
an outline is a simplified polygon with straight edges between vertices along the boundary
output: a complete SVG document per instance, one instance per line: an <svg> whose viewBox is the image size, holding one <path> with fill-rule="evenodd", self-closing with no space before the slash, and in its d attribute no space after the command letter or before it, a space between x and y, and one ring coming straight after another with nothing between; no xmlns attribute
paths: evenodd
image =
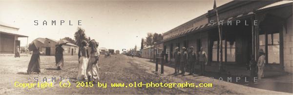
<svg viewBox="0 0 293 95"><path fill-rule="evenodd" d="M205 72L205 64L208 62L207 53L203 50L203 47L200 47L200 51L196 52L193 50L193 47L182 47L182 51L179 51L179 47L175 47L176 51L174 52L175 58L175 73L179 74L179 70L181 70L180 74L185 74L186 70L190 70L189 75L193 75L195 73L195 64L199 63L201 65L201 75L204 75Z"/></svg>

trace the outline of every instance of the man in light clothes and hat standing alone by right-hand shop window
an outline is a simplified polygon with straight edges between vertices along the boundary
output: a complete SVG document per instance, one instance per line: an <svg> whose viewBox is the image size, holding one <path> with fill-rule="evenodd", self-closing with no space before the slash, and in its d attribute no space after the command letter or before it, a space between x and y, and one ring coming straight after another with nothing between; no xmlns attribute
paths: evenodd
<svg viewBox="0 0 293 95"><path fill-rule="evenodd" d="M257 72L257 77L258 79L261 79L264 77L264 66L265 66L265 52L262 48L258 50L259 57L257 60L257 67L258 67L258 72Z"/></svg>

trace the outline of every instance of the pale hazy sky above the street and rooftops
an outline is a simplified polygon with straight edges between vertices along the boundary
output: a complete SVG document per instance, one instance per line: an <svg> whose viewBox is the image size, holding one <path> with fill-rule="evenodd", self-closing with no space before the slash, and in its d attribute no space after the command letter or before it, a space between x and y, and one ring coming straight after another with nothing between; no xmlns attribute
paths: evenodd
<svg viewBox="0 0 293 95"><path fill-rule="evenodd" d="M216 0L217 6L231 0ZM213 8L214 0L0 0L0 23L19 28L21 46L42 37L74 39L78 27L99 47L141 46L147 32L167 32ZM39 25L34 25L38 20ZM47 25L42 25L43 21ZM56 20L56 26L51 25ZM60 20L64 20L60 25ZM69 25L69 20L71 25ZM81 25L78 25L78 20Z"/></svg>

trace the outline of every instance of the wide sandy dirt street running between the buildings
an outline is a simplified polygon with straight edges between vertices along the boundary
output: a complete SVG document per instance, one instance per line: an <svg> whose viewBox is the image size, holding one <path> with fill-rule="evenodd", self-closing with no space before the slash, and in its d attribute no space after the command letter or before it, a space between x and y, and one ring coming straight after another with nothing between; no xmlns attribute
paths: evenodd
<svg viewBox="0 0 293 95"><path fill-rule="evenodd" d="M209 77L204 76L175 76L173 68L165 67L165 74L154 71L154 64L146 59L131 58L124 55L112 55L111 58L100 58L100 82L107 83L107 88L98 87L76 87L75 77L78 73L78 57L64 56L64 67L57 70L54 56L41 56L41 73L26 74L30 56L14 58L0 57L0 95L10 94L289 94L256 89L229 82L211 82ZM160 66L159 66L160 67ZM18 88L14 86L15 81L21 83L34 83L36 78L42 81L47 78L51 81L56 77L54 87ZM60 77L70 78L71 87L59 87ZM66 81L66 80L65 80ZM213 83L213 87L189 87L189 88L167 88L167 87L111 87L111 83L154 82L154 83Z"/></svg>

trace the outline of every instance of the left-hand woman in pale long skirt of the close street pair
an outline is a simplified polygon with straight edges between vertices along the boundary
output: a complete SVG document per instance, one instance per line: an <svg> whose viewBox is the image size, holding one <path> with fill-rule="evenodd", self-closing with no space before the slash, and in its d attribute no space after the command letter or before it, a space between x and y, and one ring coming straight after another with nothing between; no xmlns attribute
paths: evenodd
<svg viewBox="0 0 293 95"><path fill-rule="evenodd" d="M78 80L82 79L87 79L86 76L86 68L87 68L87 54L86 54L86 41L82 42L82 47L80 50L80 58L79 58L79 68L78 68L78 75L77 78Z"/></svg>

